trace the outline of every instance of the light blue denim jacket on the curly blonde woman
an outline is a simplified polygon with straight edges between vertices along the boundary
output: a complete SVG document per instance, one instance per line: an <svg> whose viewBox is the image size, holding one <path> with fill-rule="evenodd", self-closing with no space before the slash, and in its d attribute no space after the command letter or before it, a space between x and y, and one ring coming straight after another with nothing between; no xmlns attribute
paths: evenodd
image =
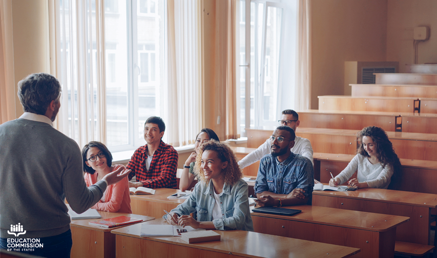
<svg viewBox="0 0 437 258"><path fill-rule="evenodd" d="M248 184L243 179L239 179L233 185L225 183L223 192L219 195L219 205L223 214L221 219L212 220L212 208L215 204L212 180L209 181L209 184L197 183L190 197L172 209L171 212L175 212L179 216L197 212L197 221L212 221L218 230L253 231L248 188ZM163 218L166 219L167 215Z"/></svg>

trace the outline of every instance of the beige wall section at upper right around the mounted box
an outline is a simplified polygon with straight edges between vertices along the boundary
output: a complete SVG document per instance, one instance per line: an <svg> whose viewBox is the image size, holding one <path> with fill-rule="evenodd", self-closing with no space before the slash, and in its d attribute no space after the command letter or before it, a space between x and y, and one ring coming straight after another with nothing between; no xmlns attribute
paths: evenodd
<svg viewBox="0 0 437 258"><path fill-rule="evenodd" d="M414 63L413 29L428 26L430 38L418 45L418 63L437 63L437 1L388 0L387 60L399 61L399 72Z"/></svg>

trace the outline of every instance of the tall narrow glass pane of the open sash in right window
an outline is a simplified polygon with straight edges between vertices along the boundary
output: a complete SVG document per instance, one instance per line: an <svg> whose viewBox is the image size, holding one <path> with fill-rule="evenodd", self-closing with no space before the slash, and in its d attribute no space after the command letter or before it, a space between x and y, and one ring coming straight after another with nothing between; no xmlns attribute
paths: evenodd
<svg viewBox="0 0 437 258"><path fill-rule="evenodd" d="M281 25L282 8L269 6L267 9L264 92L261 98L263 108L261 118L269 122L276 118Z"/></svg>

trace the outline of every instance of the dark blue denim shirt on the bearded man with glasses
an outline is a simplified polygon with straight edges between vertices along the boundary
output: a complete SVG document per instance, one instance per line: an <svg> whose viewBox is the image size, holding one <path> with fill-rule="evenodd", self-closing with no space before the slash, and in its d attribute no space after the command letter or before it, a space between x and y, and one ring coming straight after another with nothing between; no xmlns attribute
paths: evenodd
<svg viewBox="0 0 437 258"><path fill-rule="evenodd" d="M276 194L289 194L294 188L305 190L312 204L314 187L314 168L308 158L294 154L280 163L276 157L267 154L261 159L258 176L255 181L255 193L269 191Z"/></svg>

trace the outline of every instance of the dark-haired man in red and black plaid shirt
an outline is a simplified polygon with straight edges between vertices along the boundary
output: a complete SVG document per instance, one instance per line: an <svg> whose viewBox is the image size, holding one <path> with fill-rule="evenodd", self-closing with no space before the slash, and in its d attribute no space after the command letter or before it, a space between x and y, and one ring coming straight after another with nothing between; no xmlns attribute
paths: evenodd
<svg viewBox="0 0 437 258"><path fill-rule="evenodd" d="M176 188L178 152L161 140L165 130L161 117L147 118L144 125L146 145L135 150L126 166L132 170L129 180L135 176L137 181L129 181L129 187Z"/></svg>

